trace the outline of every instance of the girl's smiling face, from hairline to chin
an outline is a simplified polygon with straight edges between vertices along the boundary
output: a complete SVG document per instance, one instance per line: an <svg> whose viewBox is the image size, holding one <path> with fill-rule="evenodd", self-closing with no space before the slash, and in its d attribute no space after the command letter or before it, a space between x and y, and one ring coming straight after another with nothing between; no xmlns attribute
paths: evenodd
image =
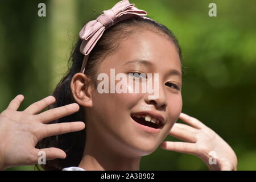
<svg viewBox="0 0 256 182"><path fill-rule="evenodd" d="M109 92L110 69L114 69L115 76L118 73L125 73L126 76L134 72L152 73L152 88L154 73L159 73L158 97L149 99L148 96L152 94L142 93L141 90L140 93L98 93L95 90L92 94L93 107L86 112L89 133L94 133L93 137L118 150L119 154L151 154L167 137L181 113L179 53L166 36L145 30L119 44L99 65L97 74L106 73L109 77ZM98 80L100 82L102 80ZM114 82L116 85L119 80ZM139 83L142 84L142 81ZM129 89L131 85L127 84ZM162 117L162 128L155 130L139 124L132 117L138 113L158 116L159 119Z"/></svg>

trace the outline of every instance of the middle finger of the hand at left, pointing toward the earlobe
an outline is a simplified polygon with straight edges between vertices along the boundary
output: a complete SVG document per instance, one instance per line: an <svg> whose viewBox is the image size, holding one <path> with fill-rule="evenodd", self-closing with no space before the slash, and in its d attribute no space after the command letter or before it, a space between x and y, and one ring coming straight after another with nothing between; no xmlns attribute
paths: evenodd
<svg viewBox="0 0 256 182"><path fill-rule="evenodd" d="M59 119L67 115L73 114L77 111L79 111L79 105L73 103L44 111L43 113L38 114L37 117L39 117L40 122L47 123L55 119Z"/></svg>

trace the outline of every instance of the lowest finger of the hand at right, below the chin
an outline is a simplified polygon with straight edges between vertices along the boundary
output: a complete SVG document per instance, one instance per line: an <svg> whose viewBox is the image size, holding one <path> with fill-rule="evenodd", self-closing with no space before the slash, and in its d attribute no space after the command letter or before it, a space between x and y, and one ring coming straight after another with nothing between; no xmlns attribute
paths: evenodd
<svg viewBox="0 0 256 182"><path fill-rule="evenodd" d="M170 150L175 152L181 152L184 154L197 154L197 146L195 143L187 142L163 142L160 147L164 150Z"/></svg>

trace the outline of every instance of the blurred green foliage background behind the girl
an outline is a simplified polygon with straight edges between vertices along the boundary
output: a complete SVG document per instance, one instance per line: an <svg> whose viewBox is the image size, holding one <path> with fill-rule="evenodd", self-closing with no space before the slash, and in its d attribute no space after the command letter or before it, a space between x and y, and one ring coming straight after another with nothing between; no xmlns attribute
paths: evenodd
<svg viewBox="0 0 256 182"><path fill-rule="evenodd" d="M40 2L46 4L46 17L38 16ZM117 2L1 1L0 111L17 94L25 96L20 110L52 94L67 71L71 48L84 22ZM180 42L185 67L183 113L199 119L229 143L236 152L238 170L256 170L256 2L130 2L170 28ZM217 17L208 15L210 2L217 5ZM196 156L161 148L142 158L141 169L208 170Z"/></svg>

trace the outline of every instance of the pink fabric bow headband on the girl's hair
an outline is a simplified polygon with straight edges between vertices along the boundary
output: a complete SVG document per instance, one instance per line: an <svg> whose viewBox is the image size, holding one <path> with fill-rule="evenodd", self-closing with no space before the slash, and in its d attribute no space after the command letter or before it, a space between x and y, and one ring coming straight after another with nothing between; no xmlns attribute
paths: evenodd
<svg viewBox="0 0 256 182"><path fill-rule="evenodd" d="M121 20L146 15L146 11L137 9L137 7L135 7L134 4L130 4L128 0L123 0L115 4L112 9L103 11L96 20L86 23L79 33L82 39L80 52L85 55L81 72L84 73L90 51L92 51L107 28Z"/></svg>

